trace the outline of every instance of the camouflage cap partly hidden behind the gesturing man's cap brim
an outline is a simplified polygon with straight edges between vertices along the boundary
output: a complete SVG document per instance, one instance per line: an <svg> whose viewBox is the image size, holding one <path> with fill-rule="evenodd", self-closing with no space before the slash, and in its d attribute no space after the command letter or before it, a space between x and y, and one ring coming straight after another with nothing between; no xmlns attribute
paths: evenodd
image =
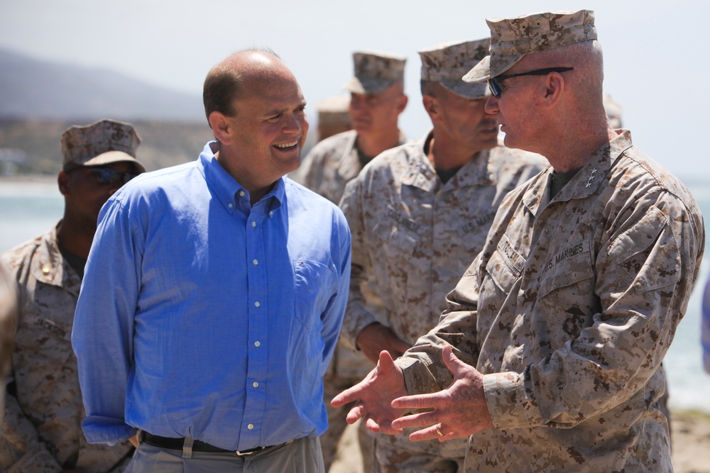
<svg viewBox="0 0 710 473"><path fill-rule="evenodd" d="M422 58L422 80L439 82L444 89L466 99L481 99L490 95L485 83L469 83L461 77L488 55L490 38L475 41L452 41L419 52Z"/></svg>

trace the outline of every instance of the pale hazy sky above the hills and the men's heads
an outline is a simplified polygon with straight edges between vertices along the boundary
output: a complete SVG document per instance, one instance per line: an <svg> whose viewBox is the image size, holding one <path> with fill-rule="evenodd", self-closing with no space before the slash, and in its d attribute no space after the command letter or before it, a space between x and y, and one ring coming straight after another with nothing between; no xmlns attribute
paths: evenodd
<svg viewBox="0 0 710 473"><path fill-rule="evenodd" d="M299 79L311 114L342 93L351 52L393 52L408 57L400 126L420 138L430 123L417 50L487 37L485 18L579 9L596 13L605 89L634 143L683 179L710 179L708 0L1 0L0 48L201 94L216 62L269 47Z"/></svg>

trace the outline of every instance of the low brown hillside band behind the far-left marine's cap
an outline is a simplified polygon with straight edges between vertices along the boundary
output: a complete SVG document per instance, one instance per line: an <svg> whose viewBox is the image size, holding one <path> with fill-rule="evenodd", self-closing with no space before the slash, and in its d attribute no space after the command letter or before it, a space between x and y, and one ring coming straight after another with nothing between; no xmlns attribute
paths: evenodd
<svg viewBox="0 0 710 473"><path fill-rule="evenodd" d="M72 125L87 125L80 120L19 120L0 118L0 158L3 152L21 155L11 171L17 174L57 174L62 168L60 140ZM214 139L207 121L132 121L141 145L136 154L148 171L196 160L204 144ZM0 161L2 161L0 159ZM0 162L0 172L7 172Z"/></svg>

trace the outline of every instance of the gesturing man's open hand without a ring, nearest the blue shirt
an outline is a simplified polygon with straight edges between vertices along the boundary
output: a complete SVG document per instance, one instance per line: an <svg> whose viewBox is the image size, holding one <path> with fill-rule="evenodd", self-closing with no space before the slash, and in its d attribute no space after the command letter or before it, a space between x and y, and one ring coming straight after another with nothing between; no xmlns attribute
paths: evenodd
<svg viewBox="0 0 710 473"><path fill-rule="evenodd" d="M389 352L383 350L375 369L361 382L335 396L330 404L340 407L359 401L348 413L348 423L364 418L365 426L371 432L395 434L402 430L392 428L392 421L405 413L405 409L393 408L392 400L406 394L402 370L395 365Z"/></svg>

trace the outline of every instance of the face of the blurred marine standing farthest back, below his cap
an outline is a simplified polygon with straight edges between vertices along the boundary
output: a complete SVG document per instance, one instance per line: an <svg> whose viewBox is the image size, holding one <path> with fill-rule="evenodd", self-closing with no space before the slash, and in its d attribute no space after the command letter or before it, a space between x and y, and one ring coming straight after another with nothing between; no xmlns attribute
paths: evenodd
<svg viewBox="0 0 710 473"><path fill-rule="evenodd" d="M397 126L407 104L402 84L396 83L378 94L350 94L350 120L358 133L371 133Z"/></svg>

